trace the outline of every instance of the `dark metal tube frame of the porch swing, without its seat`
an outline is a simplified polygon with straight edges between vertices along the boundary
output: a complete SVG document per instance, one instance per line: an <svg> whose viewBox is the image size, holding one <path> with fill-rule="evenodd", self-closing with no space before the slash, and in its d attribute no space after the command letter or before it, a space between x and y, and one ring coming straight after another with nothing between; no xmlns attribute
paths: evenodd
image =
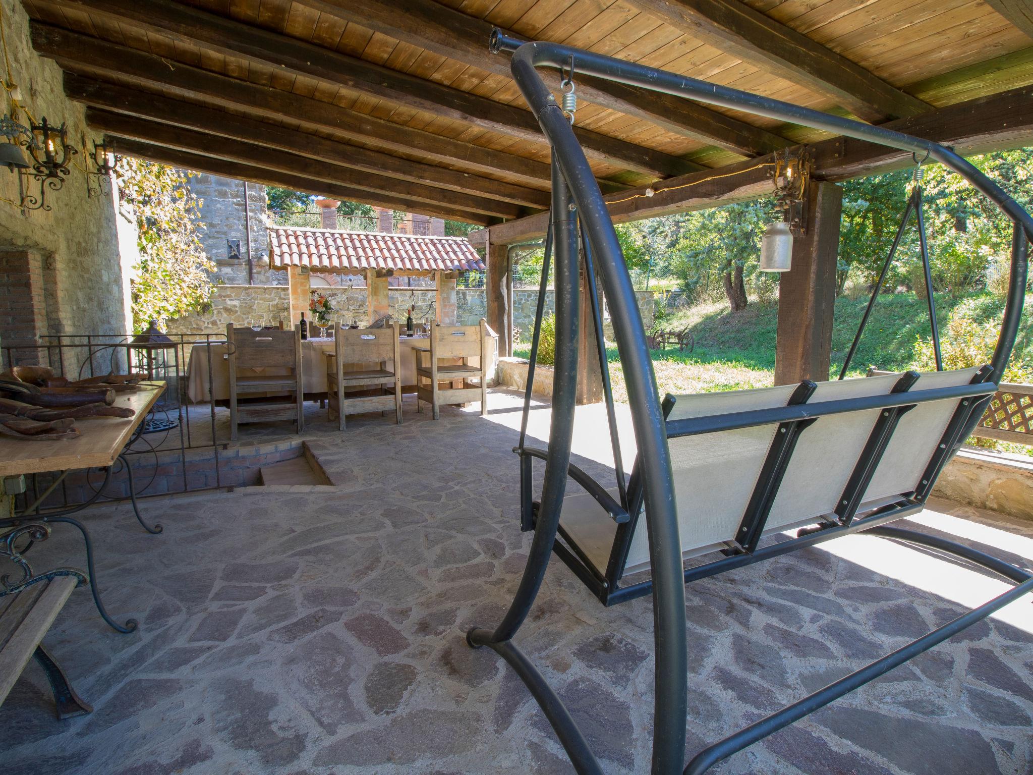
<svg viewBox="0 0 1033 775"><path fill-rule="evenodd" d="M647 528L653 575L651 591L656 682L652 772L654 775L670 775L682 771L684 765L688 691L685 582L688 579L685 578L686 571L682 565L679 524L674 502L674 483L667 447L668 428L664 417L661 416L660 400L653 378L652 362L646 343L641 316L635 303L630 277L605 202L567 117L556 103L555 96L550 93L535 68L544 66L559 69L569 65L572 70L581 74L594 75L650 91L823 129L834 134L856 137L914 154L927 154L929 158L945 164L966 178L1010 218L1014 224L1011 277L1001 334L991 368L985 375L985 381L977 389L973 389L976 391L975 393L965 394L970 397L965 402L965 411L961 411L960 407L948 425L948 432L952 437L949 439L949 446L945 445L944 454L939 458L934 456L934 460L930 462L927 472L932 472L934 477L949 460L962 440L968 436L975 423L978 422L982 408L985 407L993 395L992 393L984 395L988 385L996 390L1011 353L1022 314L1027 275L1027 248L1028 241L1033 239L1033 218L970 162L952 151L929 141L559 43L525 43L522 40L503 35L499 30L492 33L490 48L494 54L503 51L511 53L510 70L513 80L527 99L531 112L538 120L545 138L553 148L552 225L556 237L557 364L553 390L553 423L549 448L544 453L544 486L537 514L533 516L535 531L525 572L502 623L494 630L471 629L467 633L467 642L472 647L488 646L492 648L516 670L518 675L545 711L546 717L567 750L576 772L592 775L601 773L598 762L591 753L569 713L533 663L511 643L513 636L530 612L540 588L550 555L554 551L559 528L560 507L570 466L570 441L577 365L574 344L576 343L578 324L576 265L574 262L577 234L576 226L570 223L570 218L571 213L576 210L584 234L587 235L595 256L595 267L609 304L618 350L624 366L632 424L638 447L639 460L632 477L640 478L643 500L646 513L649 515ZM971 386L963 385L963 389L971 389ZM957 389L943 389L943 391L949 390ZM935 391L926 393L932 394ZM960 398L961 395L959 393L958 397ZM979 396L983 397L979 398ZM947 397L943 396L943 398ZM905 403L913 403L915 400L914 395L907 396L906 394L891 394L888 397L876 398ZM857 403L864 404L865 401L872 401L872 399L858 399ZM846 402L840 403L842 406ZM903 406L905 404L887 403L886 405ZM856 408L870 407L858 405ZM842 406L840 410L849 411L850 409ZM678 432L705 433L733 427L749 427L763 421L790 422L794 417L814 416L818 411L820 409L817 407L811 408L803 404L779 409L742 412L739 416L724 415L721 422L715 422L713 417L702 419L702 422L699 423L697 421L678 421L671 426L675 426L675 430ZM766 415L762 417L761 413L766 413ZM686 423L697 423L697 425L684 425ZM709 427L707 427L708 424ZM946 436L945 440L947 440ZM530 456L522 455L522 465L524 465L525 460L530 461ZM932 486L931 482L928 484L930 487ZM928 490L925 494L916 493L915 495L924 500L924 495L928 495ZM874 519L884 518L885 521L900 519L906 514L920 510L921 500L908 499L899 504L898 507L876 516ZM834 533L843 534L848 531L855 532L863 528L870 528L873 532L881 530L882 534L885 534L884 531L891 529L869 522L872 519L869 517L854 520L850 524L839 527L821 526L819 531L812 534L802 533L796 540L813 539L817 542L818 539L833 537ZM929 536L907 537L898 532L891 533L890 537L930 544ZM949 544L951 542L946 541L939 548L966 557L997 572L995 565L1001 564L999 560L960 545L947 547L946 545ZM780 545L775 545L774 548L761 548L753 554L734 555L727 558L728 564L733 564L731 561L741 564L756 562L764 558L764 556L758 555L763 555L765 549L777 550L778 546ZM800 546L801 542L797 542L792 549ZM784 551L792 551L792 549ZM766 556L771 556L770 553ZM1022 575L1022 579L1016 581L1019 586L1005 595L969 612L954 622L950 622L909 644L904 649L873 662L868 668L831 684L800 703L779 711L774 716L762 719L757 724L742 730L715 746L711 746L697 754L684 772L703 772L716 762L833 702L838 696L867 683L914 654L932 648L936 643L989 616L997 608L1028 591L1030 586L1028 574L1019 568L1010 568L1008 574L1012 581L1016 581L1019 578L1016 575Z"/></svg>

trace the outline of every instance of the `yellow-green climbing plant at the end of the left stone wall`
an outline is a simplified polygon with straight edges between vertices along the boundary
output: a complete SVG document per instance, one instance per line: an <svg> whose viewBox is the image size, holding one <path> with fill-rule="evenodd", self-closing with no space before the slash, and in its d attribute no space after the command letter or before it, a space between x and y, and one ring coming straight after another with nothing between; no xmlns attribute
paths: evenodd
<svg viewBox="0 0 1033 775"><path fill-rule="evenodd" d="M187 181L195 173L121 157L119 202L136 225L139 264L132 281L133 328L163 326L208 304L216 267L198 239L201 200Z"/></svg>

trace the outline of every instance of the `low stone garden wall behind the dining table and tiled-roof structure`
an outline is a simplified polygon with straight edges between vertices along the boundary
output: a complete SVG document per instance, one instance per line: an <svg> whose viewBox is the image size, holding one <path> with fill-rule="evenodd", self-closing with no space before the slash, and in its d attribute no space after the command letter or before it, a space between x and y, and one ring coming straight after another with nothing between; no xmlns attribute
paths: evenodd
<svg viewBox="0 0 1033 775"><path fill-rule="evenodd" d="M355 320L365 326L369 320L366 306L366 288L318 288L334 307L331 316L348 326ZM545 297L545 310L555 310L555 295L550 288ZM415 307L412 319L420 322L435 301L434 288L390 288L387 304L396 320L405 321L406 309ZM513 324L529 340L534 326L534 311L538 301L537 290L513 291ZM646 328L653 324L653 293L638 291L638 308L641 310ZM457 318L461 326L474 326L486 315L483 288L459 288L456 291ZM220 285L216 288L210 309L168 322L173 334L202 334L225 331L226 323L234 326L275 326L281 319L286 323L290 317L288 289L282 285ZM308 316L306 316L308 317ZM298 320L290 320L296 323Z"/></svg>

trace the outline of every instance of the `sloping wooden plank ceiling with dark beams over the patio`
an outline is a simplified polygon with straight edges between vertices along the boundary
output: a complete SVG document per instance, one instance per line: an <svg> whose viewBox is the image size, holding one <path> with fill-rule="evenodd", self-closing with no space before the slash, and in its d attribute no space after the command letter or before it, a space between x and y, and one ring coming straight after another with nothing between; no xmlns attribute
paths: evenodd
<svg viewBox="0 0 1033 775"><path fill-rule="evenodd" d="M1033 83L1027 0L24 3L35 50L124 153L484 225L549 202L549 148L493 26L876 124ZM577 84L607 193L822 138Z"/></svg>

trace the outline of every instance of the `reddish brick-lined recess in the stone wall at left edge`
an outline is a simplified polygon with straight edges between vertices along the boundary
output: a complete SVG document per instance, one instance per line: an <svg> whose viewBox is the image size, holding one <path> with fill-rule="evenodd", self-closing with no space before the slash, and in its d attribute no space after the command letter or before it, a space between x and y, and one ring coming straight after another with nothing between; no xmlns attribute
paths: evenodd
<svg viewBox="0 0 1033 775"><path fill-rule="evenodd" d="M43 256L34 250L0 251L0 339L5 347L36 344L46 333ZM34 348L11 351L11 363L44 363ZM6 361L6 353L4 360Z"/></svg>

